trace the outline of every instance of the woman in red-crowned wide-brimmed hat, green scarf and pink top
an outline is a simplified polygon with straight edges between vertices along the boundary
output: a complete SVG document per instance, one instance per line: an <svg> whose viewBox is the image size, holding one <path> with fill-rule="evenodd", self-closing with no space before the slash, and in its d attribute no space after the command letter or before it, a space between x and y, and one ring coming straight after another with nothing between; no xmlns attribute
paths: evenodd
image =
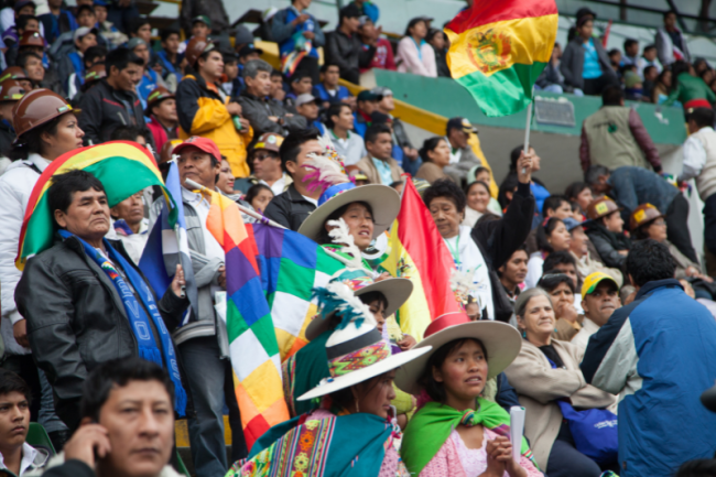
<svg viewBox="0 0 716 477"><path fill-rule="evenodd" d="M509 366L520 346L519 333L506 323L471 322L464 313L431 323L414 349L433 351L395 375L399 388L427 399L408 424L401 446L412 475L542 476L524 438L520 462L513 460L507 437L510 415L482 397L486 383Z"/></svg>

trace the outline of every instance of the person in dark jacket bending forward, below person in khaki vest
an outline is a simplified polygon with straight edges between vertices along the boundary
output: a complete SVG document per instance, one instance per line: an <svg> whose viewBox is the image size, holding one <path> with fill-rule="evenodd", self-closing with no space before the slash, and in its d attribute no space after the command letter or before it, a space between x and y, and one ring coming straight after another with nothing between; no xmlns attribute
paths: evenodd
<svg viewBox="0 0 716 477"><path fill-rule="evenodd" d="M592 166L585 181L597 194L609 194L629 215L639 204L653 204L665 210L669 240L693 262L698 262L688 231L688 200L671 183L659 174L642 167L618 167L614 171L599 165Z"/></svg>

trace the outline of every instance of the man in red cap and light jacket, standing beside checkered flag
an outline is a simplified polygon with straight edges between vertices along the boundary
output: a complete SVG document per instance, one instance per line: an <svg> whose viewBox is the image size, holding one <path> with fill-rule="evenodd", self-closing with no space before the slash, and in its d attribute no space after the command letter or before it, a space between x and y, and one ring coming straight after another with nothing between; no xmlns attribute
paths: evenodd
<svg viewBox="0 0 716 477"><path fill-rule="evenodd" d="M230 463L226 459L223 410L229 408L229 424L234 436L231 462L246 457L243 431L234 392L229 342L226 325L216 316L214 296L226 289L224 249L206 228L210 198L185 184L187 178L216 191L221 169L221 153L214 141L191 137L176 145L172 155L178 155L180 181L184 217L198 289L198 316L173 334L182 356L187 386L194 401L196 418L188 422L192 459L199 477L219 476ZM161 209L159 199L152 206L151 218ZM153 220L151 220L153 221ZM150 223L150 230L153 223Z"/></svg>

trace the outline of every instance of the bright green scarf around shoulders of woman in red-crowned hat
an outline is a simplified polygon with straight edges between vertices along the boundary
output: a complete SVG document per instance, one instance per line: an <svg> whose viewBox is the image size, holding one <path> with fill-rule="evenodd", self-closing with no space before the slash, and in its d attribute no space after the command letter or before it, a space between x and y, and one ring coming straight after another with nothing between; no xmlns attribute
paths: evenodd
<svg viewBox="0 0 716 477"><path fill-rule="evenodd" d="M420 475L445 444L451 432L460 424L468 427L480 424L499 435L510 436L510 415L495 402L477 398L477 411L470 409L460 412L449 405L431 401L417 411L403 434L400 453L408 470L412 475ZM524 437L520 452L536 467Z"/></svg>

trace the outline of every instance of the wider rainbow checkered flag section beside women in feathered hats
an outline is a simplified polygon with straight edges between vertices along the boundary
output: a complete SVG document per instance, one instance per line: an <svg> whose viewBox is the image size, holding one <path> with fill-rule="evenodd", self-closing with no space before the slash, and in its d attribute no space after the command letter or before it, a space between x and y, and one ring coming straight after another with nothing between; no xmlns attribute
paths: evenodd
<svg viewBox="0 0 716 477"><path fill-rule="evenodd" d="M258 247L263 292L271 307L281 361L308 342L305 329L316 315L311 290L325 286L346 265L311 240L293 230L263 224L252 229Z"/></svg>

